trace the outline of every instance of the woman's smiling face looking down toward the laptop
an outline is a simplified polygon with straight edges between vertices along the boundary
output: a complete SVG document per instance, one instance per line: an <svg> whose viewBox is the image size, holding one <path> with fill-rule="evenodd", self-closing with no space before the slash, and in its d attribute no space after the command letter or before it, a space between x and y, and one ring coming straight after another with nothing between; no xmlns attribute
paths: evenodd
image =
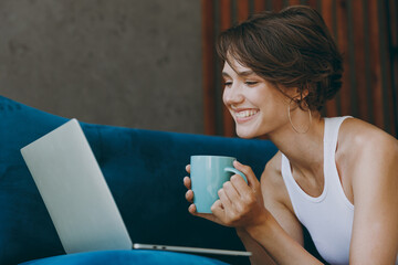
<svg viewBox="0 0 398 265"><path fill-rule="evenodd" d="M231 64L226 62L222 70L222 99L235 121L237 135L253 138L289 124L286 96L251 68L235 60Z"/></svg>

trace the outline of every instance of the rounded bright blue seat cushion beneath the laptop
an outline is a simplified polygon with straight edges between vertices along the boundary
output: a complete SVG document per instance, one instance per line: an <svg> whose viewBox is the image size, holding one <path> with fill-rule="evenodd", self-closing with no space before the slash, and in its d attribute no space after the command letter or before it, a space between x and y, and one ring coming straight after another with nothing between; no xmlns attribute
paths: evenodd
<svg viewBox="0 0 398 265"><path fill-rule="evenodd" d="M226 265L214 258L163 251L102 251L35 259L21 265Z"/></svg>

